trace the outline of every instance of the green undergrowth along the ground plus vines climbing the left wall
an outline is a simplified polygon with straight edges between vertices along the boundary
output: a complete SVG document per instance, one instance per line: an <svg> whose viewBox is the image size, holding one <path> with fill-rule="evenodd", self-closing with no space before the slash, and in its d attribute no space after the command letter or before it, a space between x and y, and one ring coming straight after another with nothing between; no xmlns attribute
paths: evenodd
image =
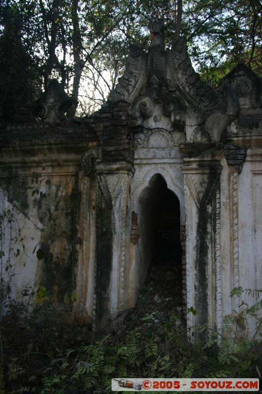
<svg viewBox="0 0 262 394"><path fill-rule="evenodd" d="M37 179L35 175L34 179ZM0 214L1 257L5 257L2 241L14 223L15 211L8 205ZM11 244L20 239L18 235L21 236L19 231L13 235ZM4 290L8 306L6 320L17 337L14 350L3 358L4 351L8 352L12 344L9 343L9 347L3 350L2 343L8 343L8 335L3 341L4 326L1 323L0 390L3 393L58 394L71 390L98 394L110 392L112 377L243 378L260 374L261 290L234 288L230 297L237 305L236 310L233 315L227 316L219 331L204 325L191 328L188 332L175 309L169 319L158 327L159 311L155 310L144 313L134 322L127 320L122 331L119 329L115 334L88 342L79 337L79 332L75 335L74 328L70 328L69 333L64 328L59 331L58 325L49 326L46 322L43 326L35 324L39 315L46 321L54 307L48 281L52 267L50 245L41 242L38 247L43 254L38 257L42 257L40 263L46 273L46 283L26 286L19 301L11 297L13 264L9 260L7 271L2 272L1 258L1 279L8 279L4 289L1 282L1 294ZM16 254L19 257L23 247L21 252L18 249ZM150 288L140 293L143 295L146 291ZM73 304L76 297L75 291L68 290L64 302ZM255 301L251 302L253 299ZM162 301L158 300L156 306L160 308ZM196 315L197 312L192 306L188 308L188 313ZM252 338L242 332L250 319L256 322ZM204 346L189 341L192 331L207 329L210 335ZM10 335L10 330L7 333Z"/></svg>

